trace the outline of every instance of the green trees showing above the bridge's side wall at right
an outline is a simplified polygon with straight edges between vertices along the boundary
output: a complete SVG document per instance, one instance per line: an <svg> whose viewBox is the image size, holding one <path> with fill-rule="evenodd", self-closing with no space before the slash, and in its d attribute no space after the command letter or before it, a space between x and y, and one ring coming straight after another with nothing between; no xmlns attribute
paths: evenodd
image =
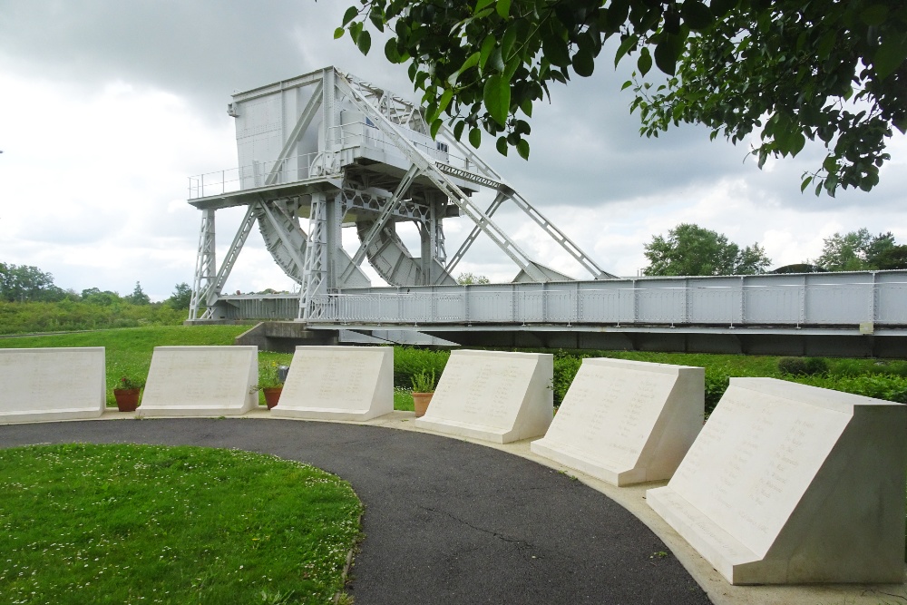
<svg viewBox="0 0 907 605"><path fill-rule="evenodd" d="M769 271L772 260L758 242L740 247L727 236L696 224L681 223L656 235L645 246L649 266L645 275L756 275L760 273L814 273L907 268L907 245L899 245L891 231L873 235L857 229L835 233L823 241L816 259Z"/></svg>

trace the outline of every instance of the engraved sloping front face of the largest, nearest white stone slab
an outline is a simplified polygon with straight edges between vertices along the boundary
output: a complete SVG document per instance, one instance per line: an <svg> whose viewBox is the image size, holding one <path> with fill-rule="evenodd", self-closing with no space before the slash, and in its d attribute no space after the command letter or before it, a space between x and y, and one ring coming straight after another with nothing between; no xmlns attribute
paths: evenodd
<svg viewBox="0 0 907 605"><path fill-rule="evenodd" d="M669 485L764 556L848 420L814 405L728 389Z"/></svg>

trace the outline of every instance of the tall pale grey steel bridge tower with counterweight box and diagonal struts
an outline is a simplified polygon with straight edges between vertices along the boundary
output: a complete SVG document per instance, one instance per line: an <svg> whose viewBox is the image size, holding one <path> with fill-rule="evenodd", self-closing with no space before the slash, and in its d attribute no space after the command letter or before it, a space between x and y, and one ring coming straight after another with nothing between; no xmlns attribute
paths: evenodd
<svg viewBox="0 0 907 605"><path fill-rule="evenodd" d="M320 317L326 295L369 287L360 268L365 259L392 286L453 284L453 269L482 235L512 259L514 282L571 279L532 259L494 222L506 202L592 279L614 278L449 131L433 139L422 108L353 75L327 67L237 93L228 113L236 121L239 169L190 178L190 204L202 213L190 321L212 318L255 226L299 284L301 320ZM472 200L483 189L494 192L486 209ZM236 206L246 214L218 267L215 213ZM454 217L471 220L473 230L448 255L444 220ZM418 229L417 255L397 234L402 221ZM343 227L356 229L352 255L341 244Z"/></svg>

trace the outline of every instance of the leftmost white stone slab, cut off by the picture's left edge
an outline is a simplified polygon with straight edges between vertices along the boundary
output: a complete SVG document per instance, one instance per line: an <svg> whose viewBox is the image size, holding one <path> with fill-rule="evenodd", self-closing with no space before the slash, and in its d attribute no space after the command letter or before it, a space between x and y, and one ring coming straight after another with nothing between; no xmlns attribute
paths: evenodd
<svg viewBox="0 0 907 605"><path fill-rule="evenodd" d="M104 348L0 349L0 423L97 418Z"/></svg>

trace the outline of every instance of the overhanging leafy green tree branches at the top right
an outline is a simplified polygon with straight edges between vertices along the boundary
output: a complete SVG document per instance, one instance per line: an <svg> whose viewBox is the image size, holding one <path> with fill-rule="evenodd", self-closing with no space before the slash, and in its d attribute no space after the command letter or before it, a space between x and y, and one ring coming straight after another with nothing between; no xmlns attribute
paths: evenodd
<svg viewBox="0 0 907 605"><path fill-rule="evenodd" d="M907 131L907 9L902 0L362 0L346 10L348 32L371 48L367 24L389 30L384 52L410 63L433 136L446 117L473 147L482 131L503 154L529 156L532 105L549 84L586 77L603 43L619 38L614 63L636 55L668 75L629 81L641 132L702 122L733 142L761 130L753 153L796 155L806 139L828 150L801 190L871 190L892 127ZM610 63L610 61L607 61Z"/></svg>

